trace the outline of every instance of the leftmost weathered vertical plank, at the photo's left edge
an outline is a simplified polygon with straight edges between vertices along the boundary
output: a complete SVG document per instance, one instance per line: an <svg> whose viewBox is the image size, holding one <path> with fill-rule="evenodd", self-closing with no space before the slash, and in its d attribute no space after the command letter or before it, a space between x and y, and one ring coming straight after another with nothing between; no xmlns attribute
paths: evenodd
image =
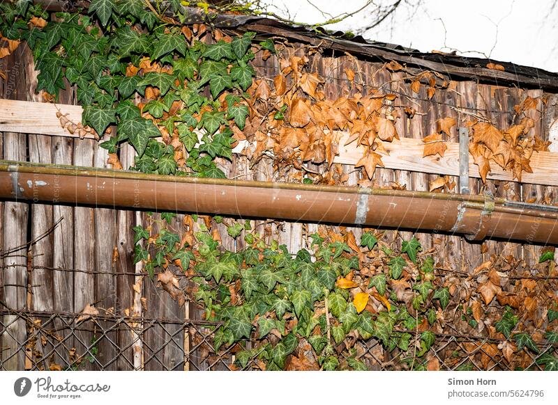
<svg viewBox="0 0 558 405"><path fill-rule="evenodd" d="M27 74L25 69L31 61L28 47L20 46L3 58L7 77L4 80L2 97L9 100L25 100ZM3 157L7 160L27 161L27 139L22 134L3 134ZM22 202L6 201L3 204L3 251L24 245L28 240L27 221L29 206ZM8 308L27 308L27 250L16 251L4 258L3 298ZM27 330L24 319L15 315L4 315L6 330L2 333L2 367L4 370L24 370Z"/></svg>

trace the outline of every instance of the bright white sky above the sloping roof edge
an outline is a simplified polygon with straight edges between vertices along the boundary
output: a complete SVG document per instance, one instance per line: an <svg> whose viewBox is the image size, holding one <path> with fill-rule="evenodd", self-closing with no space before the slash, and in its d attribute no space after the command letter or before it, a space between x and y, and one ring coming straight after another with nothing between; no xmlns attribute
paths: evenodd
<svg viewBox="0 0 558 405"><path fill-rule="evenodd" d="M352 12L365 0L310 0L331 15ZM416 1L416 0L414 0ZM558 5L556 0L423 0L418 9L405 4L378 29L363 36L421 51L451 51L466 56L490 56L498 61L558 72ZM377 3L392 3L379 0ZM308 0L273 0L295 21L317 23L324 17ZM372 6L370 6L372 7ZM368 17L368 19L370 19ZM444 22L446 48L444 49ZM327 29L356 31L366 25L366 10ZM448 49L451 48L451 49ZM465 51L479 51L472 54Z"/></svg>

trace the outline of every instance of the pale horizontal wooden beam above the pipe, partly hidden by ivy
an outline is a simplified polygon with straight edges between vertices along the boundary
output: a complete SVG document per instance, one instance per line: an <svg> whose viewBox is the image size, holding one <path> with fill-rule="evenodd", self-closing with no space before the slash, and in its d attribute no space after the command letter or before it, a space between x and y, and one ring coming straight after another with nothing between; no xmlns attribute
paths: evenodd
<svg viewBox="0 0 558 405"><path fill-rule="evenodd" d="M66 104L50 104L40 102L20 102L0 100L0 131L20 132L22 134L44 134L54 136L74 136L60 125L56 112L68 114L68 119L81 122L82 107ZM348 134L340 134L339 155L333 160L339 164L356 164L363 155L363 148L357 147L356 142L345 145ZM384 166L390 169L409 170L420 173L439 175L459 175L459 143L447 142L444 157L423 157L424 144L413 138L401 138L393 142L384 142L389 155L382 155ZM240 143L233 152L240 153L246 148L246 142ZM480 178L478 166L472 163L470 157L469 176ZM556 152L534 152L531 156L531 168L534 173L522 173L522 183L558 186ZM513 180L511 172L502 170L492 164L492 171L488 175L490 180Z"/></svg>

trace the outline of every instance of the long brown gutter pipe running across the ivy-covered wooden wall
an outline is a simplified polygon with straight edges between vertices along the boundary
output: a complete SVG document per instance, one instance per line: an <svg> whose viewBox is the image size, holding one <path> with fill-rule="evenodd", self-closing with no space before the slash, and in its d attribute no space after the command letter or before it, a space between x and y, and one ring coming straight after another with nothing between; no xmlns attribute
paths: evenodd
<svg viewBox="0 0 558 405"><path fill-rule="evenodd" d="M450 232L558 244L558 207L459 194L0 161L0 198Z"/></svg>

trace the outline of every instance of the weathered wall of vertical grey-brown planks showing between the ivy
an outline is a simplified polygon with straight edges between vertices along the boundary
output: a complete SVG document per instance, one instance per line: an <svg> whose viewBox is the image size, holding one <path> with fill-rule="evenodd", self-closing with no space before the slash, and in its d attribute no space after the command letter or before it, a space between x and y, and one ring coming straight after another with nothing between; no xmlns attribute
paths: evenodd
<svg viewBox="0 0 558 405"><path fill-rule="evenodd" d="M287 52L287 51L285 51ZM6 72L6 79L0 79L0 95L13 100L40 100L34 88L36 74L27 47L20 46L7 58L0 60L0 69ZM276 58L254 61L259 77L270 81L279 73ZM340 96L353 95L353 86L344 73L346 67L354 70L356 81L361 83L364 94L372 88L382 88L398 95L396 105L400 109L397 130L400 136L423 138L435 132L435 120L454 117L458 126L469 118L470 114L482 115L506 127L513 120L513 106L526 95L533 97L542 95L540 90L522 90L478 84L475 81L452 82L446 90L437 90L434 97L428 100L425 88L418 95L412 93L410 84L402 81L402 72L389 72L382 68L380 61L357 61L347 55L324 57L315 54L310 57L310 70L317 71L324 79L326 97L336 99ZM549 127L558 117L557 97L552 95L541 111L530 111L536 126L531 132L543 139L549 137ZM75 104L75 92L68 88L63 91L60 101ZM408 118L402 109L412 106L416 109L414 118ZM459 111L459 112L458 112ZM458 141L457 135L451 141ZM27 135L3 133L0 136L0 157L3 159L33 161L42 163L74 164L80 166L106 166L106 151L91 140L64 138L46 135ZM133 150L129 147L120 151L120 158L125 168L133 164ZM223 162L229 177L243 180L288 180L277 179L269 161L261 161L250 169L245 157L236 157L232 163ZM353 166L344 166L349 173L349 184L356 184L359 174ZM393 182L407 186L409 190L428 190L430 180L435 175L411 173L403 170L377 169L376 178L380 186L390 186ZM457 182L457 178L454 179ZM529 200L543 202L544 198L557 201L556 187L524 185L513 182L488 181L485 186L479 180L470 180L472 193L490 190L495 196L506 196L513 200ZM532 200L531 200L532 202ZM156 282L148 277L141 280L136 273L140 268L133 264L133 232L131 228L138 221L133 211L116 209L100 209L94 207L72 207L68 205L28 205L22 202L0 202L0 251L33 241L38 235L50 230L54 223L63 218L61 223L47 237L31 244L27 260L27 247L6 255L0 262L0 300L12 309L25 309L73 313L81 312L87 304L95 304L98 308L109 309L117 316L129 315L136 311L147 319L200 319L200 313L193 304L180 308L170 299L166 292L156 287ZM176 218L174 228L181 229L181 216ZM227 248L242 247L243 239L236 241L227 236L226 229L221 227L223 244ZM308 247L306 235L317 230L312 223L285 222L267 224L254 222L262 231L267 231L270 238L278 239L289 251L296 252L299 248ZM359 239L361 229L350 228ZM399 232L403 238L410 237L409 232ZM389 237L400 244L398 231L389 231ZM541 246L513 244L505 241L486 241L487 249L481 253L481 245L469 243L465 239L453 235L418 234L423 248L432 246L439 251L437 260L439 267L447 271L458 270L469 272L480 262L488 260L490 255L505 257L513 255L522 257L527 264L534 264L538 259ZM29 282L28 282L29 277ZM137 291L133 285L139 286ZM30 286L29 292L27 290ZM146 298L146 310L141 308L141 298ZM134 306L134 303L136 305ZM0 307L0 309L2 309ZM9 324L12 315L4 316L3 323ZM56 322L61 322L56 320ZM22 319L10 324L8 330L0 331L0 347L3 358L8 358L20 349L19 342L26 341L29 326ZM144 344L133 344L133 333L130 328L117 328L107 333L109 339L103 339L98 345L96 355L103 363L117 356L118 347L126 347L124 353L109 370L129 370L130 364L145 370L175 369L185 370L183 348L195 344L184 339L180 326L169 327L153 321L145 326ZM169 334L170 331L170 334ZM33 331L31 331L33 333ZM72 337L70 347L75 347L78 354L86 351L86 347L98 339L98 332L93 329L80 331ZM172 341L172 342L171 342ZM114 343L111 343L114 342ZM165 343L167 342L167 343ZM168 343L170 342L170 344ZM162 349L161 349L162 348ZM46 350L37 343L35 349ZM63 350L56 356L67 356ZM56 360L54 356L54 363ZM50 361L50 359L48 360ZM43 367L50 367L45 361ZM205 360L191 358L197 366ZM3 363L3 368L24 370L26 361L24 351ZM87 367L96 368L95 363Z"/></svg>

